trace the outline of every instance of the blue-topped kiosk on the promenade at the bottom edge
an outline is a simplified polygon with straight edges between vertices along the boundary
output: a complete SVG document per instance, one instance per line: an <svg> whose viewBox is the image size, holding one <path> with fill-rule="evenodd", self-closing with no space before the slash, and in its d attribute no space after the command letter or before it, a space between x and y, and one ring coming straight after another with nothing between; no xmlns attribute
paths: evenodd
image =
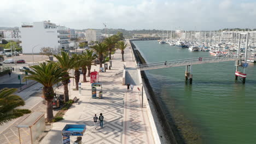
<svg viewBox="0 0 256 144"><path fill-rule="evenodd" d="M62 130L62 143L70 144L70 136L83 136L86 130L85 124L66 124ZM77 141L82 142L82 137Z"/></svg>

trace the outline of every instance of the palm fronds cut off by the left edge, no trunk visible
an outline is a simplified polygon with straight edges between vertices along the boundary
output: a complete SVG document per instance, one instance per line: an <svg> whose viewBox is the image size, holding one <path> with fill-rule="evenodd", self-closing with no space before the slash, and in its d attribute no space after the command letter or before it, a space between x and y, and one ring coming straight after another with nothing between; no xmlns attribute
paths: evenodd
<svg viewBox="0 0 256 144"><path fill-rule="evenodd" d="M25 105L25 101L19 95L13 94L16 91L16 88L3 88L0 90L0 125L26 113L31 113L27 109L16 109L16 107Z"/></svg>

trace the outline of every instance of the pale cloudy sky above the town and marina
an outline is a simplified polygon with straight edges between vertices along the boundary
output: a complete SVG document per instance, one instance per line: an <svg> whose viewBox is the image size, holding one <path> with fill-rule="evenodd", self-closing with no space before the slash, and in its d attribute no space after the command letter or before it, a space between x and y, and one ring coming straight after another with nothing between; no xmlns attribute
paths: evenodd
<svg viewBox="0 0 256 144"><path fill-rule="evenodd" d="M256 0L0 1L0 27L44 20L75 29L256 28Z"/></svg>

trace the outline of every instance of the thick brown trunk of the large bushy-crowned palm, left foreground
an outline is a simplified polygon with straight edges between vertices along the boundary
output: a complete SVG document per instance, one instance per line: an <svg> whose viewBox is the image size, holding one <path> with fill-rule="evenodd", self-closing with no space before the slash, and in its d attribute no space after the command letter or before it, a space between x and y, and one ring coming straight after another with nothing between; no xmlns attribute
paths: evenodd
<svg viewBox="0 0 256 144"><path fill-rule="evenodd" d="M53 116L53 98L54 98L54 90L53 87L43 87L44 99L47 101L46 106L46 115L47 121L52 121Z"/></svg>

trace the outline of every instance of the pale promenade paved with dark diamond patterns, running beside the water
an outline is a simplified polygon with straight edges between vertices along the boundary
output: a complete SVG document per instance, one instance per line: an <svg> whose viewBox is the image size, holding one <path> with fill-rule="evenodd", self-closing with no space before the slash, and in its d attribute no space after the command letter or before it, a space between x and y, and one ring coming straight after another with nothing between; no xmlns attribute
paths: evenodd
<svg viewBox="0 0 256 144"><path fill-rule="evenodd" d="M141 108L141 96L133 88L133 92L127 92L127 86L123 86L122 73L123 65L126 68L135 69L132 62L131 49L125 50L125 61L121 62L121 52L118 50L114 54L111 70L100 73L102 83L103 99L91 98L90 82L82 83L82 95L78 91L73 91L71 81L71 97L79 98L78 104L74 104L66 112L62 121L53 123L53 128L40 143L62 143L61 130L66 124L86 124L85 135L82 143L154 143L154 137L149 123L148 111ZM98 70L97 65L92 67L92 71ZM132 74L133 77L133 74ZM89 77L86 77L89 81ZM137 78L136 78L137 79ZM80 75L80 81L83 75ZM137 81L137 80L135 80ZM134 83L136 84L136 83ZM57 90L57 89L56 89ZM59 91L63 92L63 87ZM98 93L97 93L98 94ZM94 129L93 117L103 113L103 128ZM76 140L76 136L71 136L71 143Z"/></svg>

